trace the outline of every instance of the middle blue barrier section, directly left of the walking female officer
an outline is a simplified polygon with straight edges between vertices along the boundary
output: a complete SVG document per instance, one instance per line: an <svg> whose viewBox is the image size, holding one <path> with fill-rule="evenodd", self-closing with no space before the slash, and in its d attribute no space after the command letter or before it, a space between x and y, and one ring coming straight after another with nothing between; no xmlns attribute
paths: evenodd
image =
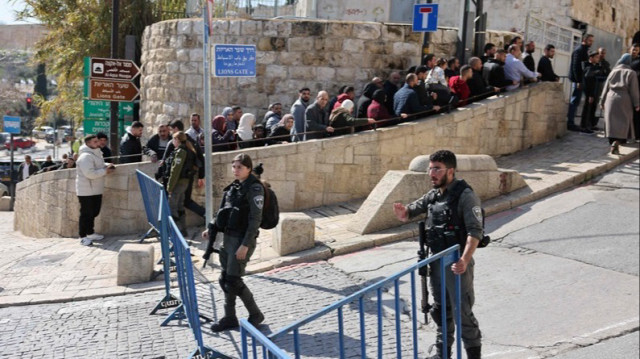
<svg viewBox="0 0 640 359"><path fill-rule="evenodd" d="M198 312L198 298L196 297L196 284L193 279L193 263L191 262L191 250L189 245L180 234L178 226L171 216L166 216L167 220L160 223L160 233L167 233L173 243L173 250L176 259L176 274L178 286L180 287L180 298L182 303L176 308L161 326L167 325L175 319L187 319L189 327L193 332L198 347L191 353L189 358L224 358L228 356L219 353L204 345L202 341L202 330L200 328L200 313Z"/></svg>

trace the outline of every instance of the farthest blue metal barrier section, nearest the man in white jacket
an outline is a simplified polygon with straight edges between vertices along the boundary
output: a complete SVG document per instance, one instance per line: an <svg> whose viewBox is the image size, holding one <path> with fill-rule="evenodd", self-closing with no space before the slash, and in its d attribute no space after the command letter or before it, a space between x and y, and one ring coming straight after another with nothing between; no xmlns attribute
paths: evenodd
<svg viewBox="0 0 640 359"><path fill-rule="evenodd" d="M164 188L162 188L162 185L143 172L140 172L140 170L136 170L136 175L138 177L140 191L142 192L142 201L144 202L147 220L151 225L151 229L147 234L155 230L160 235L165 295L150 313L155 314L159 309L174 308L180 305L180 299L171 294L170 273L172 261L171 250L169 249L169 236L167 231L161 231L162 222L171 216L171 210L169 209L167 193L164 191ZM142 240L144 240L144 238L146 238L146 235Z"/></svg>

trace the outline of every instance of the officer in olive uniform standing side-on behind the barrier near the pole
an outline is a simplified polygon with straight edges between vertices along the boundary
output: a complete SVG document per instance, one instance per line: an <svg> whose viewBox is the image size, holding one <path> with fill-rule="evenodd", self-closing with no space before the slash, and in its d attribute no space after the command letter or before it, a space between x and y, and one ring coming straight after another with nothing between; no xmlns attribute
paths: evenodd
<svg viewBox="0 0 640 359"><path fill-rule="evenodd" d="M182 131L178 131L173 135L172 142L175 151L171 162L169 180L167 181L169 207L171 208L171 217L176 221L182 235L187 237L187 215L184 207L185 194L189 188L189 183L198 173L196 149Z"/></svg>

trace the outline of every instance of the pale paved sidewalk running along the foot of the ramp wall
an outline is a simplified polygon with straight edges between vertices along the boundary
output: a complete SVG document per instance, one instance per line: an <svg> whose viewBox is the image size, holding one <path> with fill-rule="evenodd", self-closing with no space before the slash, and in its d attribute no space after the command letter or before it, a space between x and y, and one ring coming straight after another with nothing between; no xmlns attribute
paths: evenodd
<svg viewBox="0 0 640 359"><path fill-rule="evenodd" d="M620 147L620 156L610 155L608 150L607 141L601 135L569 133L562 139L498 158L498 167L517 170L528 186L486 201L483 206L489 215L537 200L588 181L640 153L638 144ZM262 231L249 271L264 272L328 259L417 236L415 224L369 235L346 230L346 224L361 203L351 201L305 211L316 220L316 247L304 252L280 257L271 247L270 231ZM93 247L83 247L77 238L29 238L12 228L13 213L0 212L0 251L3 253L0 258L0 307L77 301L163 288L161 277L140 285L115 284L118 250L125 243L137 242L139 237L136 235L110 237L95 242ZM190 233L201 229L191 228ZM156 256L160 255L156 239L147 239L146 243L153 244ZM202 266L200 256L204 246L199 238L192 241L197 267ZM217 280L217 270L210 266L202 273L206 276L203 280Z"/></svg>

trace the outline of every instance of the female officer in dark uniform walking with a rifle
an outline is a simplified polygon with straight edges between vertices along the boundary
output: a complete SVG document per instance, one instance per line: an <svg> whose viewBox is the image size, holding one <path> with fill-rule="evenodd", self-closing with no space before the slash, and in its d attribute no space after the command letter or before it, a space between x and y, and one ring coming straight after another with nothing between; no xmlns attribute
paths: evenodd
<svg viewBox="0 0 640 359"><path fill-rule="evenodd" d="M260 180L251 174L251 157L239 154L231 162L233 183L227 186L220 210L214 222L209 223L202 233L203 239L217 231L224 232L224 240L219 251L220 287L224 291L224 317L211 326L214 332L238 327L236 317L236 298L240 298L249 311L249 322L258 326L264 321L264 315L258 308L253 294L242 280L245 267L256 249L256 238L262 221L264 205L264 187Z"/></svg>

